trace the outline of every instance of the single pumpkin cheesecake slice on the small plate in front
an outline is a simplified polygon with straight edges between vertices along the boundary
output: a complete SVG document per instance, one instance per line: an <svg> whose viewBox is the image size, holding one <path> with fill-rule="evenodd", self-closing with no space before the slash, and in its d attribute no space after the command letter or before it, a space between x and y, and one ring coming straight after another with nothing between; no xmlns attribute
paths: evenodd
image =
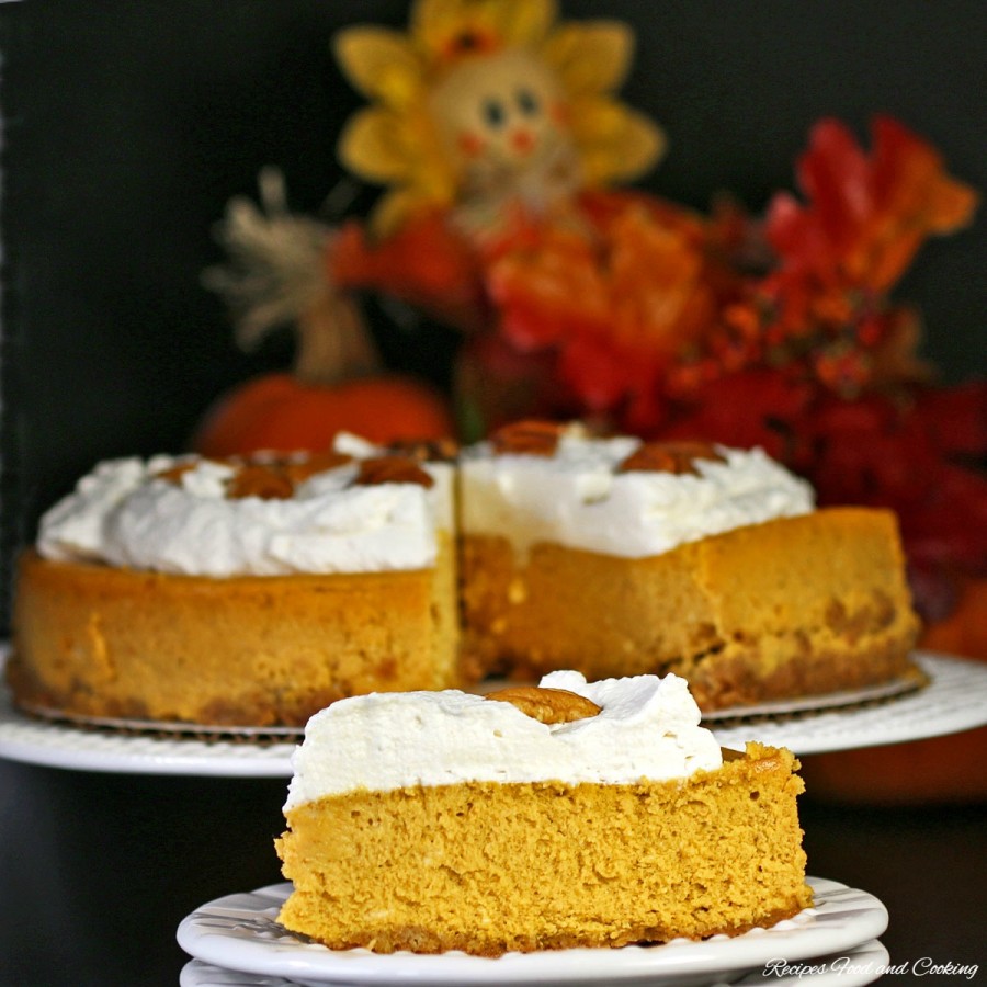
<svg viewBox="0 0 987 987"><path fill-rule="evenodd" d="M684 680L556 672L343 700L294 757L279 920L379 953L735 935L812 904L789 751L722 751Z"/></svg>

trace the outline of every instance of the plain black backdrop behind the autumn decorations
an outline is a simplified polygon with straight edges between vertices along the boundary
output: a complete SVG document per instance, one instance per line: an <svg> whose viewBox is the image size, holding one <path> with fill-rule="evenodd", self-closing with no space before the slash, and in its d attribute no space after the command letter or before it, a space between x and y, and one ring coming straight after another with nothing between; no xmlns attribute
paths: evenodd
<svg viewBox="0 0 987 987"><path fill-rule="evenodd" d="M987 190L979 0L567 0L638 35L623 90L667 131L647 189L755 211L793 188L812 123L869 143L875 113L931 140ZM406 25L398 0L24 0L0 3L4 134L2 558L100 458L177 451L234 382L286 366L287 338L245 355L200 284L211 228L276 164L314 212L344 178L362 105L329 50L338 27ZM358 190L365 213L374 190ZM983 213L983 209L980 211ZM987 222L930 243L898 295L927 317L950 381L984 368ZM455 339L378 324L396 364L445 379ZM8 576L4 574L2 586Z"/></svg>

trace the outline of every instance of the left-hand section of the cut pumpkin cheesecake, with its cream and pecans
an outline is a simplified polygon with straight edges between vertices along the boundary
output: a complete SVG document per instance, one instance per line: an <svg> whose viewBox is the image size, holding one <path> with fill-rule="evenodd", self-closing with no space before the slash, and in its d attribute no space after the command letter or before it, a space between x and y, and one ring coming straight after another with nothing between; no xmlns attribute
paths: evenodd
<svg viewBox="0 0 987 987"><path fill-rule="evenodd" d="M101 464L20 559L8 679L29 710L302 726L460 681L453 468L327 455Z"/></svg>

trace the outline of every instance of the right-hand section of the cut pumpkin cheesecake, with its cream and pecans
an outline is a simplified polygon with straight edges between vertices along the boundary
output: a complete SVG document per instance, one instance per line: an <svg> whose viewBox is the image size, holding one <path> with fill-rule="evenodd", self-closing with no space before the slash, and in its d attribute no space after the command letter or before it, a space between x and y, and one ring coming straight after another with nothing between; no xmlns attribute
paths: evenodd
<svg viewBox="0 0 987 987"><path fill-rule="evenodd" d="M894 514L759 450L521 422L460 460L464 649L535 679L676 672L704 711L912 674Z"/></svg>

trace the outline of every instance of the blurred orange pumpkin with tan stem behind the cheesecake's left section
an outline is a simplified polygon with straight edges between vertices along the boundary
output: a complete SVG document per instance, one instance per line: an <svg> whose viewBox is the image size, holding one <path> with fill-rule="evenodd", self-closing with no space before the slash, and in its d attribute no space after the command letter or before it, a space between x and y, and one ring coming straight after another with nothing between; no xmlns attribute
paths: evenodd
<svg viewBox="0 0 987 987"><path fill-rule="evenodd" d="M220 396L192 439L195 452L320 451L341 431L379 444L455 433L450 404L436 388L381 370L352 299L326 296L296 330L292 372L256 377Z"/></svg>

